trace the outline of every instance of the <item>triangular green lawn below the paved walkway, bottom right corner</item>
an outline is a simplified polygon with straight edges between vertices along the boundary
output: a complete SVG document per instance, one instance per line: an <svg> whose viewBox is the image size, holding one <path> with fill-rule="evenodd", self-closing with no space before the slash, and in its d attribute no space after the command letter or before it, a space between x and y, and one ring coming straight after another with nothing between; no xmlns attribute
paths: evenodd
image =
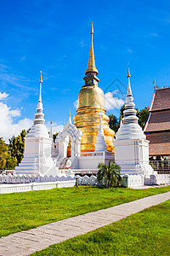
<svg viewBox="0 0 170 256"><path fill-rule="evenodd" d="M170 201L31 255L169 256Z"/></svg>

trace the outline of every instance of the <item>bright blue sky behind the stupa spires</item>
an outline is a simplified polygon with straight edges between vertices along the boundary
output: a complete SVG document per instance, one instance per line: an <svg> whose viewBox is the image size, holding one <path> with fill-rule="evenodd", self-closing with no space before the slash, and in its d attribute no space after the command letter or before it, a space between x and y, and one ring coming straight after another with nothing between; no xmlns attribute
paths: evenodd
<svg viewBox="0 0 170 256"><path fill-rule="evenodd" d="M15 133L25 124L19 122L34 118L41 70L47 123L53 119L63 125L69 108L72 116L76 114L74 102L84 84L92 21L99 87L105 93L126 91L128 62L137 108L150 105L154 77L158 86L170 84L169 1L0 3L0 92L8 94L1 103L8 107L11 125L18 125ZM111 84L115 79L124 85ZM107 113L118 116L119 110Z"/></svg>

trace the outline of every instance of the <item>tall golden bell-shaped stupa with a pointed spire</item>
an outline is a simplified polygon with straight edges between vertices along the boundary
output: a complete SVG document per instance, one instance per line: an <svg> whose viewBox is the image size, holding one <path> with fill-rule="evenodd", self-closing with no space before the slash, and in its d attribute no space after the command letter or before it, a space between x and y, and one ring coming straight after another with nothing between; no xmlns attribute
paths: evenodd
<svg viewBox="0 0 170 256"><path fill-rule="evenodd" d="M82 129L81 152L95 151L96 136L99 130L100 110L105 143L107 151L114 152L113 140L115 132L109 127L109 117L105 114L104 92L98 86L98 70L94 61L93 45L94 28L91 29L91 48L88 61L88 69L85 72L85 85L79 92L77 115L74 116L74 125Z"/></svg>

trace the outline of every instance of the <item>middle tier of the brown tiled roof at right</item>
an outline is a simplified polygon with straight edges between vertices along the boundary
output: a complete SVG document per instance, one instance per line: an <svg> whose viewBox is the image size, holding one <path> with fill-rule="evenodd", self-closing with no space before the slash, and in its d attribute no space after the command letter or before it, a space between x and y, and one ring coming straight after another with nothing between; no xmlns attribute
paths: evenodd
<svg viewBox="0 0 170 256"><path fill-rule="evenodd" d="M169 100L170 102L170 100ZM170 109L151 112L150 120L145 132L148 131L170 131ZM170 141L170 137L169 137Z"/></svg>

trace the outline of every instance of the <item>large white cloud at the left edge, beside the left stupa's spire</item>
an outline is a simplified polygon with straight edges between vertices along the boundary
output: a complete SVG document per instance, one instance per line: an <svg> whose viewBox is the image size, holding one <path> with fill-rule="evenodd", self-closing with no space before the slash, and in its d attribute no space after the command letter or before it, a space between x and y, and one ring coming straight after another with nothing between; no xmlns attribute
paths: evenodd
<svg viewBox="0 0 170 256"><path fill-rule="evenodd" d="M3 97L1 97L2 95ZM8 94L5 92L0 94L0 100L7 97ZM14 118L20 117L20 114L20 109L11 109L7 104L0 102L0 137L3 137L6 143L8 143L9 138L18 136L20 131L27 130L32 125L32 120L26 118L15 122Z"/></svg>

